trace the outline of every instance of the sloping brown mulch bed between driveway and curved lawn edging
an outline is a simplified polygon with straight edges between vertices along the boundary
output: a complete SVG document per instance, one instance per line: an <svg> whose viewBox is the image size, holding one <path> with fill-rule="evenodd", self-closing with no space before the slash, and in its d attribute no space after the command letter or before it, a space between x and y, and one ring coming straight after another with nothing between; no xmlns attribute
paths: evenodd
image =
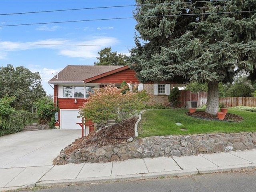
<svg viewBox="0 0 256 192"><path fill-rule="evenodd" d="M126 142L128 138L134 137L134 125L138 117L125 120L122 126L115 124L109 128L103 128L97 132L91 132L88 136L79 138L72 143L64 152L69 155L76 149L84 147L102 147Z"/></svg>

